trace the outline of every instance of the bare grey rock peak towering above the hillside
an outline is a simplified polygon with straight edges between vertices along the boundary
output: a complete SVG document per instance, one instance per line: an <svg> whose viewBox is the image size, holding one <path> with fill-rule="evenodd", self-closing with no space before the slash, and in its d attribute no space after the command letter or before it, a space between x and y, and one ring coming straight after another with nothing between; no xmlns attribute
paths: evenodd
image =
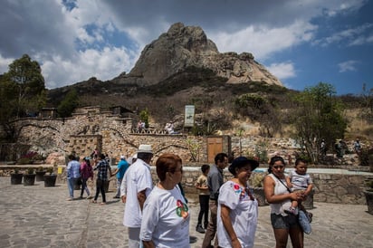
<svg viewBox="0 0 373 248"><path fill-rule="evenodd" d="M173 24L167 33L149 43L129 74L123 73L113 81L152 85L192 66L210 69L216 76L226 78L227 83L263 81L282 86L281 81L254 61L252 53L220 53L200 27L181 23Z"/></svg>

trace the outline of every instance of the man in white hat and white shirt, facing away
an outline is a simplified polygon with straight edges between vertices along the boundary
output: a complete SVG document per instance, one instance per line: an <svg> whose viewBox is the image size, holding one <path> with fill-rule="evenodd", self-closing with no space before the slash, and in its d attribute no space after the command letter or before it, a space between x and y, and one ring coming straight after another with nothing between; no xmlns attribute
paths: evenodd
<svg viewBox="0 0 373 248"><path fill-rule="evenodd" d="M150 173L150 160L153 151L150 145L140 145L138 159L125 174L123 185L120 187L120 197L124 208L123 225L129 229L129 248L139 248L139 231L141 227L142 208L153 188ZM125 184L125 185L124 185Z"/></svg>

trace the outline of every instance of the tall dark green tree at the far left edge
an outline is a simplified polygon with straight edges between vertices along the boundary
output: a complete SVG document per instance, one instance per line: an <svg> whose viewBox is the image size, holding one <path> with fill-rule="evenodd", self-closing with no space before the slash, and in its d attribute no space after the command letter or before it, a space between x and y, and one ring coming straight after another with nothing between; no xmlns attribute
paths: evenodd
<svg viewBox="0 0 373 248"><path fill-rule="evenodd" d="M45 106L46 90L42 69L29 55L24 54L9 65L4 81L12 82L16 86L16 117L36 113Z"/></svg>

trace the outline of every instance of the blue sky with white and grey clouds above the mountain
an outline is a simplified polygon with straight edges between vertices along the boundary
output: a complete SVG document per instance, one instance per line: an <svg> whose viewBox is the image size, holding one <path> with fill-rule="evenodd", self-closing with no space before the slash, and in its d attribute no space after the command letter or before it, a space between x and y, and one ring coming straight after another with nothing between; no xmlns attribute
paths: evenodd
<svg viewBox="0 0 373 248"><path fill-rule="evenodd" d="M171 24L200 26L219 52L252 52L290 89L373 88L373 0L2 0L0 73L24 53L48 89L129 72Z"/></svg>

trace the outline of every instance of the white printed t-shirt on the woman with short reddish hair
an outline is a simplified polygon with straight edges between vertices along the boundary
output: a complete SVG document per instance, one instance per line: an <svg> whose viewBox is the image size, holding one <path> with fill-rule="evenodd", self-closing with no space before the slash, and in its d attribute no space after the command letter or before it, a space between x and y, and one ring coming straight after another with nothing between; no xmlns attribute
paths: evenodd
<svg viewBox="0 0 373 248"><path fill-rule="evenodd" d="M189 248L188 207L178 186L172 190L155 186L145 201L140 239L156 247Z"/></svg>

